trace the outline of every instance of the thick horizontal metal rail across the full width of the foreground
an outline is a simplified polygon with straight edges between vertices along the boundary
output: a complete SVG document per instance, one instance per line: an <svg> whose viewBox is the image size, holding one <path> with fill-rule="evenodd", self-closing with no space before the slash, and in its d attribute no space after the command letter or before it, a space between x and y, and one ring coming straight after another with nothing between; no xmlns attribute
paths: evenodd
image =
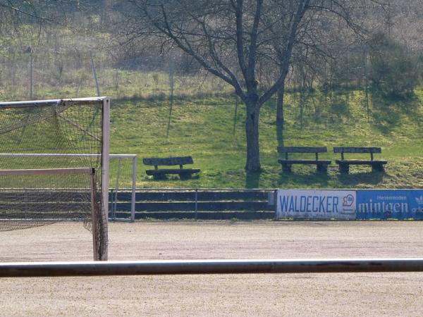
<svg viewBox="0 0 423 317"><path fill-rule="evenodd" d="M422 272L423 259L171 260L0 263L0 277Z"/></svg>

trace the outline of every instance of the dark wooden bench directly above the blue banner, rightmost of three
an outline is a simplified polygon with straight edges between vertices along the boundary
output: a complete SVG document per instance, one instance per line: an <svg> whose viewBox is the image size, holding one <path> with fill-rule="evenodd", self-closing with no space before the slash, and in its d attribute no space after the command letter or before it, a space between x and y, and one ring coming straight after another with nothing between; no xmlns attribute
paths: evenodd
<svg viewBox="0 0 423 317"><path fill-rule="evenodd" d="M374 161L373 154L381 153L380 147L333 147L333 153L341 153L341 160L335 162L339 165L341 173L349 173L350 165L369 165L372 166L372 171L384 171L384 164L388 161ZM369 153L370 160L346 160L344 153Z"/></svg>

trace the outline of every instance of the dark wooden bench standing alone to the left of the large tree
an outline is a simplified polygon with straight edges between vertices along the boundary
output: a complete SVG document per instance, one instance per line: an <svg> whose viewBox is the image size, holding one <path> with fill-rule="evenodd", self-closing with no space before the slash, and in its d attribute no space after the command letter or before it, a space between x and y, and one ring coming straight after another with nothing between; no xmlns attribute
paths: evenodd
<svg viewBox="0 0 423 317"><path fill-rule="evenodd" d="M154 170L146 170L147 175L154 178L164 178L166 174L179 174L180 178L190 178L193 173L200 173L198 168L183 168L185 164L192 164L191 156L166 157L166 158L145 158L142 162L148 166L154 166ZM176 166L179 168L161 168L159 166Z"/></svg>

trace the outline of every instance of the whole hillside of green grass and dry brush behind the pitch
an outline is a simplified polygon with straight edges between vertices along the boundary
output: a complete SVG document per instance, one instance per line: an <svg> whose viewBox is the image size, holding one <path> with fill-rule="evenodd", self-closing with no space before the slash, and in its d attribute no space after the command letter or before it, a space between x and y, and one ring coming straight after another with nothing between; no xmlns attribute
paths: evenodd
<svg viewBox="0 0 423 317"><path fill-rule="evenodd" d="M207 73L182 51L159 49L154 42L157 38L123 45L124 25L111 23L122 18L114 6L119 1L102 1L101 12L98 1L80 2L87 6L63 9L67 23L41 26L37 19L19 21L13 15L11 20L0 21L0 99L95 96L95 66L99 94L112 99L111 152L139 156L138 187L423 187L419 1L390 1L387 7L370 1L370 6L363 7L365 14L361 15L360 9L356 18L371 32L358 41L346 25L326 25L328 32L316 36L324 40L321 45L333 57L330 60L317 51L309 52L308 46L295 50L286 80L285 129L282 132L276 127L276 100L271 99L260 113L264 171L249 175L244 170L245 106L239 104L234 118L233 87ZM54 10L53 6L46 12ZM378 37L372 35L379 35L379 46L373 40ZM326 45L326 40L331 45ZM230 65L235 73L239 73L237 65ZM274 65L259 63L256 71L259 89L264 91L275 79ZM398 89L400 85L405 88ZM168 130L171 89L176 97ZM366 94L364 89L371 90ZM397 96L403 97L382 95L396 89ZM277 163L278 145L328 147L329 153L321 156L333 161L328 175L308 166L283 173ZM350 175L339 175L334 164L338 155L332 147L342 145L382 147L376 158L389 161L386 173L355 167ZM199 177L157 181L145 175L143 157L180 155L193 156L194 167L202 170ZM364 159L366 155L355 157Z"/></svg>

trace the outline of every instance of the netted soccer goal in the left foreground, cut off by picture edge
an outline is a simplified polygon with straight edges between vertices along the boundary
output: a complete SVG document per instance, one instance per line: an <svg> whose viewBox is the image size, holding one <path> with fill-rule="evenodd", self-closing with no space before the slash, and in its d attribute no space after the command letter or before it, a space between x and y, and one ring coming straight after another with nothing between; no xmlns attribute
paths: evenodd
<svg viewBox="0 0 423 317"><path fill-rule="evenodd" d="M83 220L107 259L109 109L106 97L0 103L0 153L27 154L0 156L1 231Z"/></svg>

